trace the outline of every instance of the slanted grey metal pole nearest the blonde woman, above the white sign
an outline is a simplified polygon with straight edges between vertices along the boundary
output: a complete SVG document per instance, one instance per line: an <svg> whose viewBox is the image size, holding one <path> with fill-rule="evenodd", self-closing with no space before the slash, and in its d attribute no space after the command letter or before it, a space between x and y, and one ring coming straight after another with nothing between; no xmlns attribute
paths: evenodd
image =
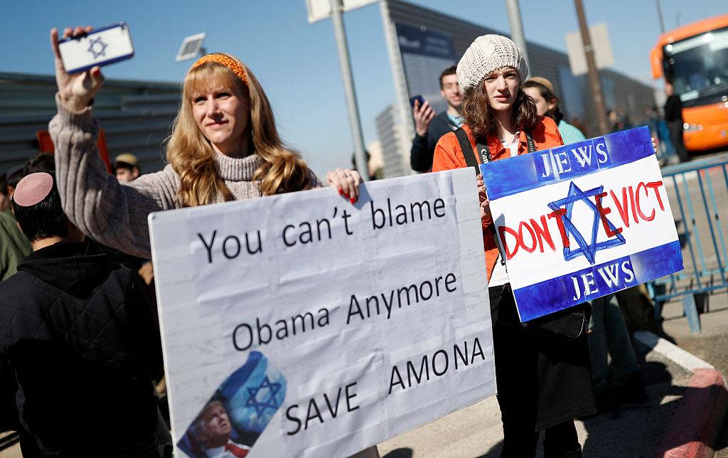
<svg viewBox="0 0 728 458"><path fill-rule="evenodd" d="M359 119L359 108L357 106L357 95L354 90L354 77L352 76L352 64L349 60L349 45L347 44L347 33L344 31L344 20L341 11L344 7L341 0L331 0L331 22L333 23L333 35L336 37L336 49L339 50L339 64L341 65L341 80L344 82L344 92L347 96L347 108L349 108L349 126L352 130L354 141L354 154L357 163L357 170L362 175L363 181L369 181L369 168L364 154L364 138L362 136L362 125Z"/></svg>

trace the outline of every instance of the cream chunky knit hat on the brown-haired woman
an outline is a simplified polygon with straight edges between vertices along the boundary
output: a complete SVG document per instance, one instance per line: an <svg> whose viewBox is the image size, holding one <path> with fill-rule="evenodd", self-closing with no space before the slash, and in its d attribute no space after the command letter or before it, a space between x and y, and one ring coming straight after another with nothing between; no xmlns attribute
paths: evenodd
<svg viewBox="0 0 728 458"><path fill-rule="evenodd" d="M457 64L458 83L466 91L478 86L491 71L502 67L518 70L522 83L529 76L526 59L514 42L501 35L478 36Z"/></svg>

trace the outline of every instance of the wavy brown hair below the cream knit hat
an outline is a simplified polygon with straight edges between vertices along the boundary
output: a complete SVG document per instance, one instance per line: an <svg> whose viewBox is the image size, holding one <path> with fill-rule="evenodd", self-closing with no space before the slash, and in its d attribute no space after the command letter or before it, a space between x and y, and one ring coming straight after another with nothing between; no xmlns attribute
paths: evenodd
<svg viewBox="0 0 728 458"><path fill-rule="evenodd" d="M475 138L486 138L488 134L498 131L498 123L488 100L485 79L463 94L462 116L470 127ZM511 107L513 124L519 129L533 129L539 122L534 100L526 95L518 84L513 107Z"/></svg>

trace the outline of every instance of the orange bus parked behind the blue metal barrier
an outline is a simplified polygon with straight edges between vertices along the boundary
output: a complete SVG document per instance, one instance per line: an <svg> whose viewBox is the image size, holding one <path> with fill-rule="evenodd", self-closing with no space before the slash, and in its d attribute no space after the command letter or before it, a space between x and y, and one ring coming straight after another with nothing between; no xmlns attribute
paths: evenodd
<svg viewBox="0 0 728 458"><path fill-rule="evenodd" d="M728 15L663 33L650 52L652 76L673 83L691 151L728 146Z"/></svg>

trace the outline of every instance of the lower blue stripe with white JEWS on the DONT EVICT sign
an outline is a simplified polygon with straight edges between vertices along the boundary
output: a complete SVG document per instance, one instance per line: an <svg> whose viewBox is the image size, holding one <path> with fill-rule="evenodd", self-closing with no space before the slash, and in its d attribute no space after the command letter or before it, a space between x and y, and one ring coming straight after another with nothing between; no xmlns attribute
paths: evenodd
<svg viewBox="0 0 728 458"><path fill-rule="evenodd" d="M521 321L529 321L682 269L680 242L675 240L630 256L524 286L514 290L513 294ZM578 292L574 279L577 280Z"/></svg>

